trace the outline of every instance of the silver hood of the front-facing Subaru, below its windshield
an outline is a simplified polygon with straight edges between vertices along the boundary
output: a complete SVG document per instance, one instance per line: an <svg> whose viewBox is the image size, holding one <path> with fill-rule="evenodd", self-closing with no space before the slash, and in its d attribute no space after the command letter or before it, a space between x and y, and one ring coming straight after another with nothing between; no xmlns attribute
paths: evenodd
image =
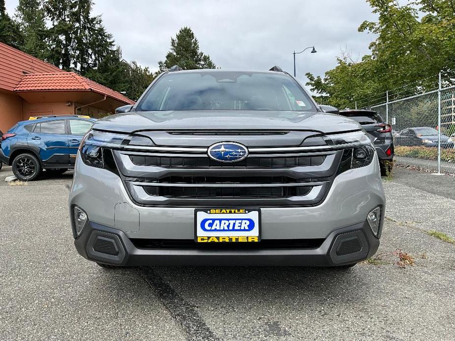
<svg viewBox="0 0 455 341"><path fill-rule="evenodd" d="M356 121L320 112L283 111L155 111L104 117L93 129L119 133L147 130L311 130L324 134L361 129Z"/></svg>

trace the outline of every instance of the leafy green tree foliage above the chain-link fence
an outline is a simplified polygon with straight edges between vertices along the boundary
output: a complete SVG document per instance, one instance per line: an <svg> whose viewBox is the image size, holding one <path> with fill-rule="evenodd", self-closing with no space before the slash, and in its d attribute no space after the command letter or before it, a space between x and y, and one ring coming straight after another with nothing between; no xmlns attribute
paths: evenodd
<svg viewBox="0 0 455 341"><path fill-rule="evenodd" d="M364 21L360 32L377 38L371 55L355 61L349 56L324 78L307 74L307 85L340 108L355 101L385 102L387 89L415 82L413 89L434 88L422 80L440 70L453 73L455 64L455 5L452 0L417 0L400 5L395 0L367 0L377 22ZM401 93L403 95L403 93Z"/></svg>

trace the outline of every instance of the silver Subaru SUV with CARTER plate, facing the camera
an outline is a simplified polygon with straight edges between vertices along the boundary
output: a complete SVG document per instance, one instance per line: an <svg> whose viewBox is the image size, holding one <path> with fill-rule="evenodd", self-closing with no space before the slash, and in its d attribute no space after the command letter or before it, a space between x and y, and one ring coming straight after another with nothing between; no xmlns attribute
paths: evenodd
<svg viewBox="0 0 455 341"><path fill-rule="evenodd" d="M288 73L182 71L85 136L69 207L104 267L350 267L378 249L385 198L361 125Z"/></svg>

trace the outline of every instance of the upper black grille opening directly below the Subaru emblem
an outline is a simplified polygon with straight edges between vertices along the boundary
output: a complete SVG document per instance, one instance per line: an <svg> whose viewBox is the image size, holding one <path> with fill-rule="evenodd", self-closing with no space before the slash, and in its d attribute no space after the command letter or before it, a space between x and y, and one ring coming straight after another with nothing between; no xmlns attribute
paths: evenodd
<svg viewBox="0 0 455 341"><path fill-rule="evenodd" d="M324 155L296 157L248 157L239 162L223 163L209 157L163 157L130 155L131 162L137 166L157 166L164 168L290 168L296 166L319 166Z"/></svg>

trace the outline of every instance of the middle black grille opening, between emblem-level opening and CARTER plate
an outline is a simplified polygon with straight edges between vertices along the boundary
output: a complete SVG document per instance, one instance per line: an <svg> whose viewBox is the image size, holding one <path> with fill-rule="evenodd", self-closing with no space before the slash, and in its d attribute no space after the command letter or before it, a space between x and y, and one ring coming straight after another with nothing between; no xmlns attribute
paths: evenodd
<svg viewBox="0 0 455 341"><path fill-rule="evenodd" d="M167 198L237 198L237 199L273 199L305 196L311 186L293 187L161 187L144 186L150 196Z"/></svg>

